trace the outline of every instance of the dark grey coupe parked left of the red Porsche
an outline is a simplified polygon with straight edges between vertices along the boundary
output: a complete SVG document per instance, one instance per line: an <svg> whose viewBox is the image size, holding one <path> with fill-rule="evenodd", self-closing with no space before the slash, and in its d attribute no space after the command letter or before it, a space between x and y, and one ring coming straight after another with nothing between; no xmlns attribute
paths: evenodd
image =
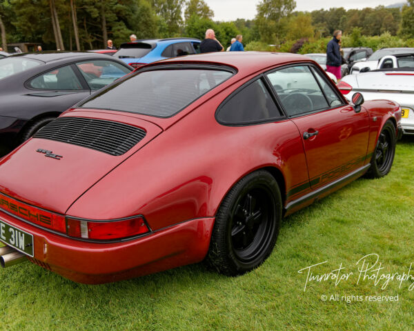
<svg viewBox="0 0 414 331"><path fill-rule="evenodd" d="M133 70L91 52L41 52L0 59L0 156L70 106Z"/></svg>

